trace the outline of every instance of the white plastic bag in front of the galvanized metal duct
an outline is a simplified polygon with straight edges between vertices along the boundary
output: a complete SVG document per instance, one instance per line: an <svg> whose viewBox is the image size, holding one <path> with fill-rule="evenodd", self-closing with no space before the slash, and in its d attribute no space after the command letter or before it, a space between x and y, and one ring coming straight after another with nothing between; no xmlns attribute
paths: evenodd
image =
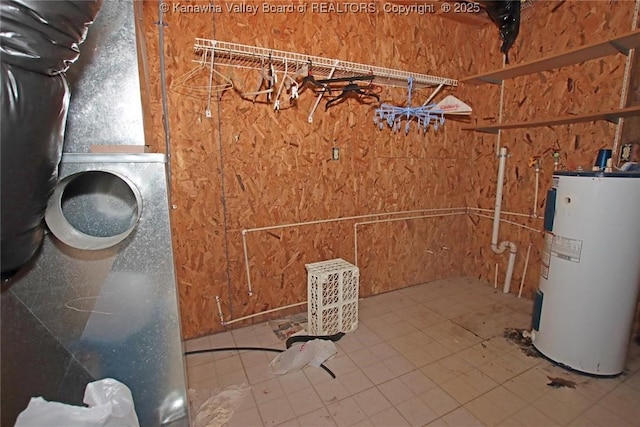
<svg viewBox="0 0 640 427"><path fill-rule="evenodd" d="M113 378L87 384L82 401L88 407L32 397L15 427L140 427L131 390Z"/></svg>

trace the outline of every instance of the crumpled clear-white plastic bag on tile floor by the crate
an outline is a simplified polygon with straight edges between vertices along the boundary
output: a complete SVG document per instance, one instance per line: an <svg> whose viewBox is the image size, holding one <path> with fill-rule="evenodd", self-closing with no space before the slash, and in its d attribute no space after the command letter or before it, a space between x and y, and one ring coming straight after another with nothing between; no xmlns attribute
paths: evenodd
<svg viewBox="0 0 640 427"><path fill-rule="evenodd" d="M291 346L276 356L269 364L269 370L273 374L286 374L306 365L317 368L337 351L333 341L321 339L307 341L302 345Z"/></svg>

